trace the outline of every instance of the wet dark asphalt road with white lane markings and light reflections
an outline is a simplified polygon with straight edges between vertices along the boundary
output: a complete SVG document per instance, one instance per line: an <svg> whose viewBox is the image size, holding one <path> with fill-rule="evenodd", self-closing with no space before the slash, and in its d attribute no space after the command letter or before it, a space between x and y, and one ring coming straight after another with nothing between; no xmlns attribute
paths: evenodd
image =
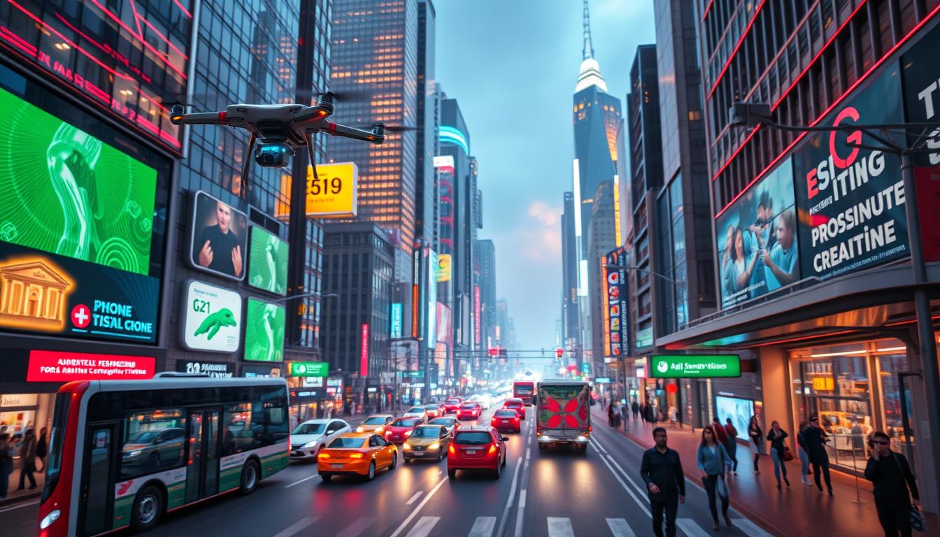
<svg viewBox="0 0 940 537"><path fill-rule="evenodd" d="M495 408L495 407L494 407ZM493 410L479 420L488 423ZM651 535L649 503L639 478L642 450L599 423L587 453L539 450L534 417L509 436L502 477L459 472L446 460L417 461L383 471L373 482L322 482L315 464L292 464L260 482L250 496L227 495L167 513L153 537L383 536L505 537L523 535L628 537ZM693 461L685 461L694 465ZM34 500L35 501L35 500ZM0 508L9 537L35 536L38 505ZM733 529L714 532L705 493L687 480L680 535L770 535L732 510ZM128 533L124 533L128 534Z"/></svg>

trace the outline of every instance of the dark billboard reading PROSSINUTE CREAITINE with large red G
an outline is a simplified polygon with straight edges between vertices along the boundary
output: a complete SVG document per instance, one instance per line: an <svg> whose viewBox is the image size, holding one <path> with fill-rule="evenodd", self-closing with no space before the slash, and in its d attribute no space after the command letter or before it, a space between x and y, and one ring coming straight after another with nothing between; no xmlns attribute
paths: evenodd
<svg viewBox="0 0 940 537"><path fill-rule="evenodd" d="M897 64L821 125L901 123ZM801 276L826 279L909 255L901 165L859 131L807 134L793 153Z"/></svg>

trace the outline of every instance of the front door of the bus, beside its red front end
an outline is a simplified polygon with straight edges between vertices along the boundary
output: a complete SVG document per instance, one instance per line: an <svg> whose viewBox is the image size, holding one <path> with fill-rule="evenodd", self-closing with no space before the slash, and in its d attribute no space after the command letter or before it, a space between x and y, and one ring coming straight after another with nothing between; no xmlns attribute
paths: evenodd
<svg viewBox="0 0 940 537"><path fill-rule="evenodd" d="M83 535L97 535L114 527L115 474L118 467L118 422L91 423L85 430L82 464L82 511L78 520Z"/></svg>

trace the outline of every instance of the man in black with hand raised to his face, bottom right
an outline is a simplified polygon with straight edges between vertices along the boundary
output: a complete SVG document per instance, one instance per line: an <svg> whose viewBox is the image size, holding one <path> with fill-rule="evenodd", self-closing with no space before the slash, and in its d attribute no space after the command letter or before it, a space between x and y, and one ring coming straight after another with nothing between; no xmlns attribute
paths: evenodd
<svg viewBox="0 0 940 537"><path fill-rule="evenodd" d="M891 441L882 431L871 434L871 457L865 466L865 479L874 485L875 509L885 537L910 537L911 498L914 508L920 504L917 480L907 457L891 450Z"/></svg>

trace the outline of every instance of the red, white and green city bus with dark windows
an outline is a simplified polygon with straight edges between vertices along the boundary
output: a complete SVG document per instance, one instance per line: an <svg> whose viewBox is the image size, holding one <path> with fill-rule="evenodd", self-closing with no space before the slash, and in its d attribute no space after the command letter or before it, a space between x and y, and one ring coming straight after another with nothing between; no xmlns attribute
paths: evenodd
<svg viewBox="0 0 940 537"><path fill-rule="evenodd" d="M158 373L55 394L39 535L152 529L164 513L239 491L290 462L283 378Z"/></svg>

